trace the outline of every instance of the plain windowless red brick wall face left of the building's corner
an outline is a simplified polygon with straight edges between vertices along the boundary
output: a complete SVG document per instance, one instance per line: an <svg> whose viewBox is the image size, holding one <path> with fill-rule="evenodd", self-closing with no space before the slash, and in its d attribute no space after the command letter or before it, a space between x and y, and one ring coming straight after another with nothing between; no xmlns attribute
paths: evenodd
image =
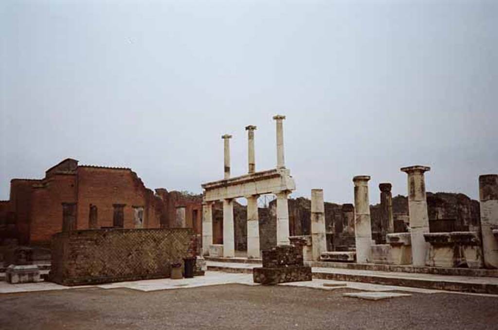
<svg viewBox="0 0 498 330"><path fill-rule="evenodd" d="M42 186L32 188L30 244L48 243L53 234L61 231L62 203L74 202L76 202L74 174L54 174L43 180Z"/></svg>

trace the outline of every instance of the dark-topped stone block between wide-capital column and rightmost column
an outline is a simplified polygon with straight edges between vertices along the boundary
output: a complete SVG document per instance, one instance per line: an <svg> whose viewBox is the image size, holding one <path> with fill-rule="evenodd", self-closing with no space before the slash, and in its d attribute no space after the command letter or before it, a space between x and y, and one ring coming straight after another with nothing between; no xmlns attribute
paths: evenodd
<svg viewBox="0 0 498 330"><path fill-rule="evenodd" d="M483 253L479 233L475 231L453 231L424 234L430 244L427 266L482 268Z"/></svg>

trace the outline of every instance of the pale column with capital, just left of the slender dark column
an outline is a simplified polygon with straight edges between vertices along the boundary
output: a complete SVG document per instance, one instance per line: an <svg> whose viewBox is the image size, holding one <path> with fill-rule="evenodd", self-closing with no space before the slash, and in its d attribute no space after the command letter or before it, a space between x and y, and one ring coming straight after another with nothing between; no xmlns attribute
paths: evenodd
<svg viewBox="0 0 498 330"><path fill-rule="evenodd" d="M353 178L355 183L355 241L356 262L372 262L372 224L370 220L368 175L358 175Z"/></svg>

